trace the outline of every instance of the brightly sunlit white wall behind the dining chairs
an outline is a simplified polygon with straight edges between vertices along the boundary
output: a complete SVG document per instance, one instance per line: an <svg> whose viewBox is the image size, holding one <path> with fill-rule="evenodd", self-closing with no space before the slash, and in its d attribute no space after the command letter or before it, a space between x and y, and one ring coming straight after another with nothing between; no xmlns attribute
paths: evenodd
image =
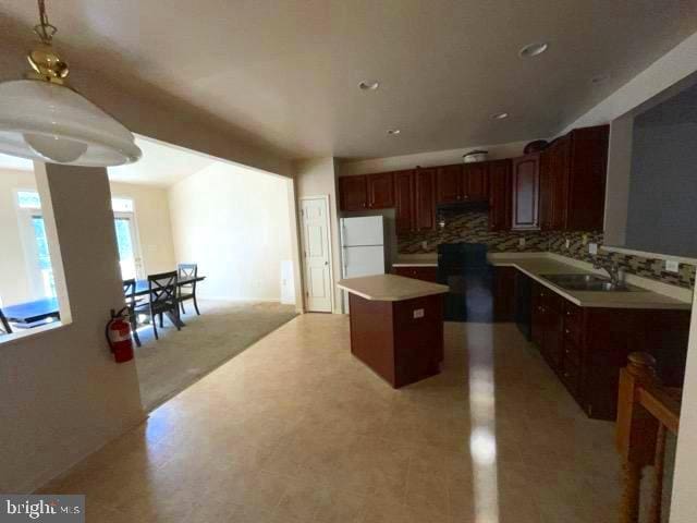
<svg viewBox="0 0 697 523"><path fill-rule="evenodd" d="M201 297L279 300L292 259L289 180L217 162L169 191L175 257L197 263Z"/></svg>

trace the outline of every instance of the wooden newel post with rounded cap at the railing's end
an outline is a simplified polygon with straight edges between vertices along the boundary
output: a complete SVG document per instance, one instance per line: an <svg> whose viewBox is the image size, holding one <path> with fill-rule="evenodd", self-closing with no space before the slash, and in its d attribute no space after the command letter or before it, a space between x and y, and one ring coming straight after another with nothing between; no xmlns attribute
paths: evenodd
<svg viewBox="0 0 697 523"><path fill-rule="evenodd" d="M656 360L643 352L629 354L628 364L620 370L617 398L616 446L624 470L624 492L620 521L637 523L639 519L639 491L641 470L656 458L658 422L638 402L636 391L640 386L655 386Z"/></svg>

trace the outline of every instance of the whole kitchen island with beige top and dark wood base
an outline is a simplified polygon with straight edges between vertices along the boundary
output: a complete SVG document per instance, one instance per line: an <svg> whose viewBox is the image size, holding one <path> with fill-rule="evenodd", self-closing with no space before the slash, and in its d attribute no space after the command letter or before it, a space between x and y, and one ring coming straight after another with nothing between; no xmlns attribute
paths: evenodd
<svg viewBox="0 0 697 523"><path fill-rule="evenodd" d="M341 280L351 352L398 389L440 373L447 285L395 275Z"/></svg>

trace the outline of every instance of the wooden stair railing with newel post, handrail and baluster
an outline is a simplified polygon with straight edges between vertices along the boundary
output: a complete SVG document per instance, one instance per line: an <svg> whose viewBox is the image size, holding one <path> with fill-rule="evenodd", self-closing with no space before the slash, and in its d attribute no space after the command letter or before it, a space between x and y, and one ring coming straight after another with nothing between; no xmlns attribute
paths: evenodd
<svg viewBox="0 0 697 523"><path fill-rule="evenodd" d="M649 522L660 523L665 462L665 430L677 435L682 389L662 387L656 360L643 352L629 354L620 370L616 446L623 460L624 492L621 523L638 523L641 475L653 466Z"/></svg>

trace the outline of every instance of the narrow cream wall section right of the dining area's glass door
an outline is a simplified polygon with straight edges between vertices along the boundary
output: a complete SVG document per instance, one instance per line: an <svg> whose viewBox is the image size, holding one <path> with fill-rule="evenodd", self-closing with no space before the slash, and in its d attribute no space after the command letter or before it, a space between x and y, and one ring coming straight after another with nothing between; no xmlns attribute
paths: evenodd
<svg viewBox="0 0 697 523"><path fill-rule="evenodd" d="M113 197L132 198L145 272L152 275L176 267L168 190L150 185L111 182Z"/></svg>

